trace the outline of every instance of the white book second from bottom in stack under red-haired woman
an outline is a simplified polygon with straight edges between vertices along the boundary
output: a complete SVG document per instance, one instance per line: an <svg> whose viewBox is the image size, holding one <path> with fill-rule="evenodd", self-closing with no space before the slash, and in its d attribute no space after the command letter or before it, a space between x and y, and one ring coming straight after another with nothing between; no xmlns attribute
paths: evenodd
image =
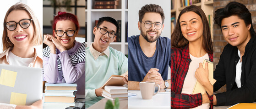
<svg viewBox="0 0 256 109"><path fill-rule="evenodd" d="M74 96L76 92L71 90L45 90L44 95Z"/></svg>

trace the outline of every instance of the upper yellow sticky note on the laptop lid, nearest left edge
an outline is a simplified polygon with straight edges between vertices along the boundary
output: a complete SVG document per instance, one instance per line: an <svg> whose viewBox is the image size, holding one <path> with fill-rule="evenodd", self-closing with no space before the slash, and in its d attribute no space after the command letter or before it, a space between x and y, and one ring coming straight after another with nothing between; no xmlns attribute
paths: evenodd
<svg viewBox="0 0 256 109"><path fill-rule="evenodd" d="M0 84L14 87L16 76L17 76L17 72L2 69L1 75L0 75Z"/></svg>

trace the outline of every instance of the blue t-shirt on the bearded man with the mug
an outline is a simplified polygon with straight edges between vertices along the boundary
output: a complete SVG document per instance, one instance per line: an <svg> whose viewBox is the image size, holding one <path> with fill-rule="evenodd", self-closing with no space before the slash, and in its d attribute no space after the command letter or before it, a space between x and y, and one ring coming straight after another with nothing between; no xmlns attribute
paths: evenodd
<svg viewBox="0 0 256 109"><path fill-rule="evenodd" d="M128 76L131 81L142 81L151 68L159 69L163 80L168 79L171 65L171 40L159 37L153 57L147 57L140 46L139 35L128 38ZM168 66L169 65L169 66Z"/></svg>

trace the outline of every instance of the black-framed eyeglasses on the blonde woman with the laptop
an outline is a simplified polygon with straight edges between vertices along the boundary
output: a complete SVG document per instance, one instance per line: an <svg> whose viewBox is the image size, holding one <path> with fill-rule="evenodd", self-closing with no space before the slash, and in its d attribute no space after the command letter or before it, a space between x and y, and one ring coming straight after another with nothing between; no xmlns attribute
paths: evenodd
<svg viewBox="0 0 256 109"><path fill-rule="evenodd" d="M33 21L33 19L22 19L17 23L15 21L9 21L5 23L5 26L10 31L15 30L17 27L17 24L19 24L23 29L26 29L29 27L31 21Z"/></svg>

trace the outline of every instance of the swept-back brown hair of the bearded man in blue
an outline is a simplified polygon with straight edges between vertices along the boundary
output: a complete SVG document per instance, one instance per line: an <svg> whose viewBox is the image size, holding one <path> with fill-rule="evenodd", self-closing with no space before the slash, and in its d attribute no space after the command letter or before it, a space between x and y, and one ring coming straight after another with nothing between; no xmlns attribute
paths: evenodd
<svg viewBox="0 0 256 109"><path fill-rule="evenodd" d="M149 4L149 5L144 5L141 10L139 10L139 21L141 22L145 13L147 12L155 12L155 13L159 13L162 17L162 24L164 21L164 13L163 13L163 9L161 6L159 5L155 5L155 4Z"/></svg>

